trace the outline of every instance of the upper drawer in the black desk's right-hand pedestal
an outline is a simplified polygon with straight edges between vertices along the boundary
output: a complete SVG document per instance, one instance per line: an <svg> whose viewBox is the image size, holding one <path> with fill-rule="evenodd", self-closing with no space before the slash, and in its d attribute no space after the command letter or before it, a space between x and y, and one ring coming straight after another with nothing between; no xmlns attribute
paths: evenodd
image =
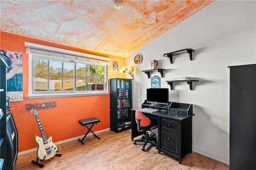
<svg viewBox="0 0 256 170"><path fill-rule="evenodd" d="M161 129L179 134L179 123L177 120L161 118Z"/></svg>

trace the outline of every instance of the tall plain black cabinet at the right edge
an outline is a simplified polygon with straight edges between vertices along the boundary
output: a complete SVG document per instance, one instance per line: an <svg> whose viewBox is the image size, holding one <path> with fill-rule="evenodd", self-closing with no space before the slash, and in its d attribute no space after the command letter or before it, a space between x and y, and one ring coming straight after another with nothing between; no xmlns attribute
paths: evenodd
<svg viewBox="0 0 256 170"><path fill-rule="evenodd" d="M256 64L230 68L230 170L256 168Z"/></svg>

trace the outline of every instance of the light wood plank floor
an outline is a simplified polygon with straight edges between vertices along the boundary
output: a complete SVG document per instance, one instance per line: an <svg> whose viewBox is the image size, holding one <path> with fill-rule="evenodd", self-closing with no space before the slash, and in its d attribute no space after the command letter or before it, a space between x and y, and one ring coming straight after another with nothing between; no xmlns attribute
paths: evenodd
<svg viewBox="0 0 256 170"><path fill-rule="evenodd" d="M15 170L229 170L229 166L195 152L182 158L182 164L148 144L134 145L129 131L106 131L84 139L57 145L62 156L44 160L44 168L32 164L36 152L18 156ZM54 137L53 137L54 139ZM136 138L137 139L137 138ZM34 141L32 141L34 142Z"/></svg>

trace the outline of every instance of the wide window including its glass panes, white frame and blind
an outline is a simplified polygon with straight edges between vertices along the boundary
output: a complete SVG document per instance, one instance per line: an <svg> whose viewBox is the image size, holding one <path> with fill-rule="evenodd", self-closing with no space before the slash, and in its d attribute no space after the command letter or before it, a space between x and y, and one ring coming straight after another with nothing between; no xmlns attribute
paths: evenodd
<svg viewBox="0 0 256 170"><path fill-rule="evenodd" d="M26 43L29 54L29 98L108 93L111 59ZM102 60L104 59L104 60Z"/></svg>

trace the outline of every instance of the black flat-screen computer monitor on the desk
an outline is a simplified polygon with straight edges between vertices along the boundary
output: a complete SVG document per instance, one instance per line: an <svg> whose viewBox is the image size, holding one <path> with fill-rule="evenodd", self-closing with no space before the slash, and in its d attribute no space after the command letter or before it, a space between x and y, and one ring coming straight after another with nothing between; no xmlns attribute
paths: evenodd
<svg viewBox="0 0 256 170"><path fill-rule="evenodd" d="M168 88L147 88L147 102L156 104L155 106L168 105Z"/></svg>

